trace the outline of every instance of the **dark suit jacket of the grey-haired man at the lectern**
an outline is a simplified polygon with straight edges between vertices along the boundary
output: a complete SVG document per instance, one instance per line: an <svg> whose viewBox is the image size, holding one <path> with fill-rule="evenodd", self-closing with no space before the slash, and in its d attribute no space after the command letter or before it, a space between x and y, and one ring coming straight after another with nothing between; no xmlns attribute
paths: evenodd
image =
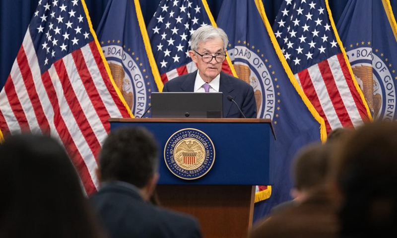
<svg viewBox="0 0 397 238"><path fill-rule="evenodd" d="M164 85L163 92L193 92L195 90L196 74L197 70L168 81ZM224 118L243 118L236 105L227 100L228 95L234 98L234 101L236 101L247 118L257 117L254 89L248 83L220 72L219 92L223 93Z"/></svg>

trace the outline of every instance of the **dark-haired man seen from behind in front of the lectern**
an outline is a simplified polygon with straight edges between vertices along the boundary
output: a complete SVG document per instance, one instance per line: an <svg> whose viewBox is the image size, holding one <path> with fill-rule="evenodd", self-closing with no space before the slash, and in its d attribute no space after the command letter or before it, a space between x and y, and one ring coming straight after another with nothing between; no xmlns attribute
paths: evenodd
<svg viewBox="0 0 397 238"><path fill-rule="evenodd" d="M90 201L112 238L199 238L198 222L148 202L159 175L158 148L141 127L111 132L99 156L101 188Z"/></svg>

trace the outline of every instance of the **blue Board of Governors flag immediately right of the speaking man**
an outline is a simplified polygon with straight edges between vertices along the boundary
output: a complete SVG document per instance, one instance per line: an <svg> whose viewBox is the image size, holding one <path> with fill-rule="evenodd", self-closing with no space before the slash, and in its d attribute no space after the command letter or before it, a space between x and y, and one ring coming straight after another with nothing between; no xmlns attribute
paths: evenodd
<svg viewBox="0 0 397 238"><path fill-rule="evenodd" d="M261 0L224 1L217 25L228 35L238 77L254 88L258 117L271 119L276 136L270 139L271 196L268 187L257 188L256 221L291 199L291 160L302 146L324 140L326 126L285 61Z"/></svg>

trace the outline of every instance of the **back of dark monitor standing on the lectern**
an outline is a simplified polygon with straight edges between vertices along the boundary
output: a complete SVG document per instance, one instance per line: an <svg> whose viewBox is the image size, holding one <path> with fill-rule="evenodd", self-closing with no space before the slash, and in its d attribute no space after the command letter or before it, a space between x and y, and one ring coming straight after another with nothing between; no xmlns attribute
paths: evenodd
<svg viewBox="0 0 397 238"><path fill-rule="evenodd" d="M152 118L222 118L222 93L153 92Z"/></svg>

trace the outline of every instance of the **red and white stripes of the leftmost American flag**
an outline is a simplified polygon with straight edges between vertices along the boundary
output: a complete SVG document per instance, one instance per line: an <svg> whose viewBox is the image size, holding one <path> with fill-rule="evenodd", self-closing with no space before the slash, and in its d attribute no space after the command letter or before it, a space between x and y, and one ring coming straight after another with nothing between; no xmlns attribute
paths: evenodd
<svg viewBox="0 0 397 238"><path fill-rule="evenodd" d="M3 133L51 133L63 142L87 194L96 191L96 157L108 119L130 117L91 42L40 73L29 31L0 92Z"/></svg>

